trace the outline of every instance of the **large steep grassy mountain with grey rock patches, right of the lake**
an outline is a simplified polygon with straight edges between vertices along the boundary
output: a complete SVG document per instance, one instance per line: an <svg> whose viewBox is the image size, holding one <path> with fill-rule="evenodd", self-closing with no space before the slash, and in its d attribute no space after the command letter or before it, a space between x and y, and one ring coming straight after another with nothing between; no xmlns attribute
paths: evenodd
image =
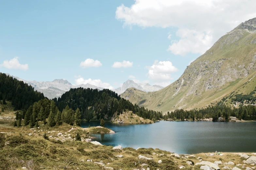
<svg viewBox="0 0 256 170"><path fill-rule="evenodd" d="M163 111L201 109L222 101L237 107L236 95L253 95L256 86L256 18L218 39L184 70L182 76L155 92L129 88L120 96L133 104Z"/></svg>

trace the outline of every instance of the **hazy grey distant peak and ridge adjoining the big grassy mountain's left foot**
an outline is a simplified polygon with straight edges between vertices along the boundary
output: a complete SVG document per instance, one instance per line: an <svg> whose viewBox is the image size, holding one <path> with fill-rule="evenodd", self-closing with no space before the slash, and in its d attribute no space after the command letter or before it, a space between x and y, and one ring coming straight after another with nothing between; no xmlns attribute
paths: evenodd
<svg viewBox="0 0 256 170"><path fill-rule="evenodd" d="M121 94L126 89L131 88L131 87L134 87L138 90L142 90L144 92L153 92L153 91L157 91L157 90L164 88L160 85L150 85L148 83L147 84L137 84L133 80L127 80L126 82L123 83L122 87L116 88L114 91L117 94Z"/></svg>

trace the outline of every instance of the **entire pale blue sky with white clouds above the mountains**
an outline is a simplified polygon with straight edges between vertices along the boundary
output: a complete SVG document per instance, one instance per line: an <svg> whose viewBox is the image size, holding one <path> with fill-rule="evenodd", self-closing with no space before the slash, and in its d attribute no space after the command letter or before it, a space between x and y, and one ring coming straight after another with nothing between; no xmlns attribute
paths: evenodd
<svg viewBox="0 0 256 170"><path fill-rule="evenodd" d="M0 72L114 89L167 86L255 0L0 1Z"/></svg>

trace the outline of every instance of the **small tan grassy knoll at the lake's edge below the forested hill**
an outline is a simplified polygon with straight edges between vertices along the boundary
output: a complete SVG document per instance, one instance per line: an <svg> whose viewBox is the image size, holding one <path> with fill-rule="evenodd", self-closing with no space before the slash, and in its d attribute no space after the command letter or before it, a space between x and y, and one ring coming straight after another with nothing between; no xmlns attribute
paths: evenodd
<svg viewBox="0 0 256 170"><path fill-rule="evenodd" d="M122 123L131 123L131 124L154 123L152 120L139 117L133 114L131 111L123 112L119 116L116 116L112 122L119 123L118 120L121 121Z"/></svg>

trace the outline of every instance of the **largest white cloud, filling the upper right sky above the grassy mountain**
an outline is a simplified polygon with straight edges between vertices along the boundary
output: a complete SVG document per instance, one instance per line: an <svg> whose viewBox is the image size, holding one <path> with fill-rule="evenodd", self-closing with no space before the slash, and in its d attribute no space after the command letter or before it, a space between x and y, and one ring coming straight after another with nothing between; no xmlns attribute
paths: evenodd
<svg viewBox="0 0 256 170"><path fill-rule="evenodd" d="M176 27L179 38L168 50L202 54L226 32L256 17L255 6L255 0L135 0L131 7L117 7L116 19L123 26Z"/></svg>

